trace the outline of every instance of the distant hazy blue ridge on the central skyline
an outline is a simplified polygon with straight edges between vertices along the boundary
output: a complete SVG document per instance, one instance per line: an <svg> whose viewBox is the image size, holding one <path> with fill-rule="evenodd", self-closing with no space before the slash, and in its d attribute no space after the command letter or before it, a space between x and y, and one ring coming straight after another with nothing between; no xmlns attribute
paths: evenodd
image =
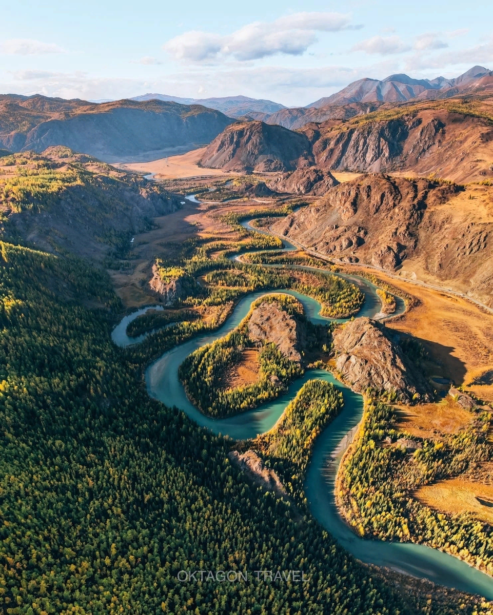
<svg viewBox="0 0 493 615"><path fill-rule="evenodd" d="M209 109L221 111L228 117L244 117L249 114L271 114L286 109L284 105L274 103L271 100L248 98L246 96L226 96L220 98L180 98L178 96L168 96L167 94L144 94L136 96L130 100L164 100L174 101L180 105L202 105ZM256 119L256 118L254 118Z"/></svg>

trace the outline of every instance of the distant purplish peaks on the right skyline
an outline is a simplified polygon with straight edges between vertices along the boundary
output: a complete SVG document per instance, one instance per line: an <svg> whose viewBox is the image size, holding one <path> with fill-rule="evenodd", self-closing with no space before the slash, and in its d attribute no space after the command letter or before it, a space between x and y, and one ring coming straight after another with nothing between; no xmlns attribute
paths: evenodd
<svg viewBox="0 0 493 615"><path fill-rule="evenodd" d="M485 77L490 81L483 81ZM308 108L329 105L347 105L349 103L404 102L413 98L436 99L455 96L469 90L475 85L486 87L493 83L493 73L484 66L473 66L466 73L455 79L437 77L430 79L412 79L406 74L394 74L382 79L358 79L331 96L319 98Z"/></svg>

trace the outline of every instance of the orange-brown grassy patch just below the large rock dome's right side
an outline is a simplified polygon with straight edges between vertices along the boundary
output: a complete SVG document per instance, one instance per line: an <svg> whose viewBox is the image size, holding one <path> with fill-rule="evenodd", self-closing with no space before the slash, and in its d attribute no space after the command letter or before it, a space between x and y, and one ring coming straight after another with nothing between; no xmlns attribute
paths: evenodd
<svg viewBox="0 0 493 615"><path fill-rule="evenodd" d="M399 406L398 416L399 429L419 438L455 434L475 418L475 415L460 408L450 395L439 403Z"/></svg>

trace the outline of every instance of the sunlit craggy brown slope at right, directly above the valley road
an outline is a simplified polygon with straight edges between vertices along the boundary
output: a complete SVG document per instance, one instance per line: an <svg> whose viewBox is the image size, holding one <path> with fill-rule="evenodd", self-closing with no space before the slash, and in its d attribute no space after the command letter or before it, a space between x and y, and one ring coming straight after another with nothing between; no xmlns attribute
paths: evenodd
<svg viewBox="0 0 493 615"><path fill-rule="evenodd" d="M493 186L367 174L272 228L335 260L448 285L493 306Z"/></svg>

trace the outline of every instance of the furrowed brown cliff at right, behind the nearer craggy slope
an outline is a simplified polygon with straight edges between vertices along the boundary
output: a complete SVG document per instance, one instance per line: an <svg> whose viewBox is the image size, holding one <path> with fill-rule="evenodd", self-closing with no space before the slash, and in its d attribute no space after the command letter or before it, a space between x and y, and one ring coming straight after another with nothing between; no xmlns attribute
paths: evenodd
<svg viewBox="0 0 493 615"><path fill-rule="evenodd" d="M446 109L425 109L382 121L304 131L316 164L356 172L410 170L454 181L493 178L493 128L484 119Z"/></svg>

